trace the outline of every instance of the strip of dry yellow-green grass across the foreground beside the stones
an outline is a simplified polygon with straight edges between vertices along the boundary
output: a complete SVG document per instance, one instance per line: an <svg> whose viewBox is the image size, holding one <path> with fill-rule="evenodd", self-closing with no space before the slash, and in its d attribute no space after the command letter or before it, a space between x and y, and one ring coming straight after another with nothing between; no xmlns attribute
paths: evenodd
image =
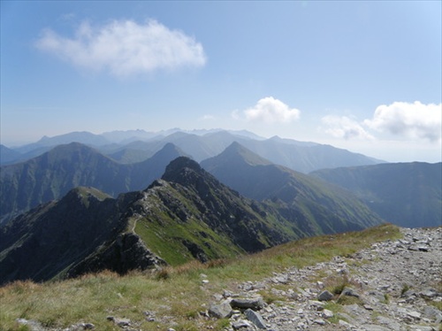
<svg viewBox="0 0 442 331"><path fill-rule="evenodd" d="M16 322L23 318L38 320L46 327L89 322L95 324L95 329L117 330L106 319L109 315L131 319L143 330L221 329L223 320L197 318L198 312L208 309L214 294L224 289L235 291L236 284L242 281L260 280L287 267L301 268L333 256L347 256L372 242L399 237L399 228L387 224L361 232L289 242L244 258L206 265L190 262L167 267L160 273L118 276L103 272L42 284L16 281L0 288L0 329L25 330ZM210 281L203 286L201 273ZM156 313L154 322L146 320L146 311Z"/></svg>

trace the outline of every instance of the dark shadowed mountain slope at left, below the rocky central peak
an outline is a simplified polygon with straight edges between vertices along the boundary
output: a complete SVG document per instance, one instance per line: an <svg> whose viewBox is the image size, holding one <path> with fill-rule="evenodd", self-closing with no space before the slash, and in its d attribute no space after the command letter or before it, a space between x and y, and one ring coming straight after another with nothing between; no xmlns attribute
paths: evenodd
<svg viewBox="0 0 442 331"><path fill-rule="evenodd" d="M102 192L78 188L20 215L0 228L0 282L63 276L115 239L124 227L118 213L115 201Z"/></svg>

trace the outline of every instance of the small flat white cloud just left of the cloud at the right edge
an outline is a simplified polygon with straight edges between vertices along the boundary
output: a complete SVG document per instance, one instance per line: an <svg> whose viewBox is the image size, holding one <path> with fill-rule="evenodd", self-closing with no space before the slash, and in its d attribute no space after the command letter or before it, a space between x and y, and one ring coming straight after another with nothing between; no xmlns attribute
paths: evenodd
<svg viewBox="0 0 442 331"><path fill-rule="evenodd" d="M333 135L337 138L344 139L374 139L365 129L354 119L349 119L347 116L329 115L321 119L324 124L325 133Z"/></svg>

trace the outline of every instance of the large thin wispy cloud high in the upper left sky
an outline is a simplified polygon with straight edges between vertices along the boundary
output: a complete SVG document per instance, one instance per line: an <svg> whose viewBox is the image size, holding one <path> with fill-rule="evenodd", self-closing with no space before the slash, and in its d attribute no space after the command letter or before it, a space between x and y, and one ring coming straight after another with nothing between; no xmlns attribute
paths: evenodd
<svg viewBox="0 0 442 331"><path fill-rule="evenodd" d="M73 65L109 70L117 76L206 63L201 43L156 20L141 25L133 20L114 20L103 27L83 22L73 38L46 29L35 45Z"/></svg>

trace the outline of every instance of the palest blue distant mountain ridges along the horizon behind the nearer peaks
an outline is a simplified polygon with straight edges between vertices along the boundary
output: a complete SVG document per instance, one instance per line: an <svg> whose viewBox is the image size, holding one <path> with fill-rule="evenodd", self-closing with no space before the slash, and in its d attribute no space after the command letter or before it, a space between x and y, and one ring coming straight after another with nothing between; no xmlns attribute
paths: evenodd
<svg viewBox="0 0 442 331"><path fill-rule="evenodd" d="M104 133L103 135L70 133L51 138L44 137L40 142L13 149L19 155L16 158L2 158L4 160L1 162L2 165L5 165L34 158L57 144L67 142L81 142L125 164L141 162L152 157L168 142L175 144L197 162L216 156L232 142L239 142L263 158L301 173L309 173L322 168L374 165L384 162L316 142L298 142L278 136L265 139L244 130L184 131L178 128L158 133L131 130Z"/></svg>

